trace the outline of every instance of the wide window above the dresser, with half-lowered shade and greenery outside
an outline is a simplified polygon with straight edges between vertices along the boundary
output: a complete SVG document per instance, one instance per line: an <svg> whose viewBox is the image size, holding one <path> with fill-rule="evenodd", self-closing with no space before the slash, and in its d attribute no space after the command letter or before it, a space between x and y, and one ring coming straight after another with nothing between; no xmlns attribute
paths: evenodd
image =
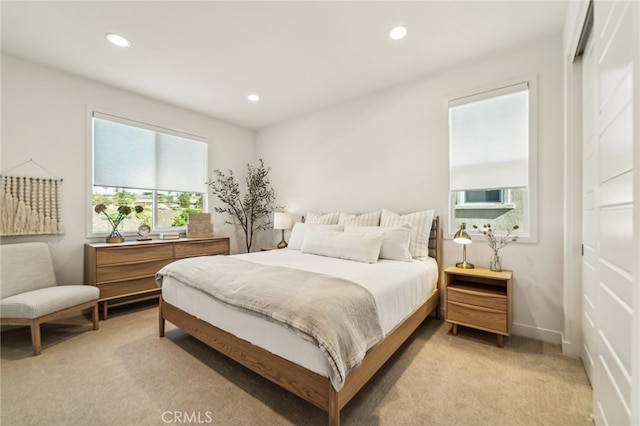
<svg viewBox="0 0 640 426"><path fill-rule="evenodd" d="M135 231L141 224L153 230L184 228L189 213L206 206L207 144L202 138L173 130L92 112L92 206L108 213L118 206L142 206L120 225ZM90 234L110 226L91 210Z"/></svg>

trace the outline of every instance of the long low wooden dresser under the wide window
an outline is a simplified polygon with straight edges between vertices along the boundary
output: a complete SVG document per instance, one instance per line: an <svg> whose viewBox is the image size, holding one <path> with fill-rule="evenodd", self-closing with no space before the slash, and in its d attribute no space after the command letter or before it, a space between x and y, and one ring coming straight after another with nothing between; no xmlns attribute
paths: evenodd
<svg viewBox="0 0 640 426"><path fill-rule="evenodd" d="M158 298L155 274L163 266L186 257L216 254L229 254L229 238L85 244L85 283L100 289L98 302L107 319L109 306Z"/></svg>

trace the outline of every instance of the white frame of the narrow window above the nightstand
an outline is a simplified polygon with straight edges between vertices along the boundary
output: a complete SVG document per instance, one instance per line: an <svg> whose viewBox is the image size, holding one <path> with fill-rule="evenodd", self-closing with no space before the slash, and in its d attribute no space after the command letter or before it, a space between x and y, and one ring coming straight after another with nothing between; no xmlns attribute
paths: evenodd
<svg viewBox="0 0 640 426"><path fill-rule="evenodd" d="M528 203L525 201L525 220L527 221L526 228L523 228L518 233L518 241L525 243L537 243L538 242L538 77L535 74L527 75L520 78L514 78L511 80L506 80L501 83L492 84L489 86L476 88L467 90L462 93L458 93L456 95L450 96L445 100L445 109L447 117L447 146L450 144L451 135L450 129L448 125L449 120L449 106L450 103L467 97L474 97L477 99L481 99L483 94L487 94L487 98L491 97L490 92L495 92L500 89L514 86L522 83L527 83L529 86L529 150L528 150ZM449 161L449 149L447 149L447 163L450 164ZM502 188L496 188L502 189ZM508 191L507 191L508 192ZM455 223L455 211L456 211L456 192L452 192L450 190L450 186L447 185L447 193L448 193L448 205L449 205L449 214L448 214L448 224L446 227L445 238L453 238L453 235L458 231L454 229ZM495 204L492 203L494 206ZM505 205L504 207L507 207ZM474 240L483 240L484 236L478 232L473 232L474 230L469 230L469 234Z"/></svg>

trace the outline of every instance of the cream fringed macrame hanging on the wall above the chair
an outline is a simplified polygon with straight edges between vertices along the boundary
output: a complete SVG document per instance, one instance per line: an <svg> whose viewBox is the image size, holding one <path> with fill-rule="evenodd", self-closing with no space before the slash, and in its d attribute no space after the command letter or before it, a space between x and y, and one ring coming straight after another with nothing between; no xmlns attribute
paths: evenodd
<svg viewBox="0 0 640 426"><path fill-rule="evenodd" d="M32 159L11 170L29 162L47 171ZM62 179L2 174L0 189L0 235L64 234Z"/></svg>

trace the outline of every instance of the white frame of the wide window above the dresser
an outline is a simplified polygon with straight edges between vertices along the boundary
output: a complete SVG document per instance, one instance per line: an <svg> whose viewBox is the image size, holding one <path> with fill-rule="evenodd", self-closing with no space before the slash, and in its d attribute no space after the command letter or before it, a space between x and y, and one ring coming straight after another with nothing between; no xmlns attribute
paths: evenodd
<svg viewBox="0 0 640 426"><path fill-rule="evenodd" d="M163 125L163 124L158 124L158 123L153 123L150 122L149 120L141 120L138 118L131 118L129 116L127 116L127 114L123 114L123 113L118 113L118 112L113 112L113 111L109 111L107 109L104 108L99 108L99 107L94 107L94 106L87 106L86 107L86 193L85 193L85 197L86 197L86 202L85 205L87 206L87 211L90 212L90 214L87 216L86 220L85 220L85 224L86 224L86 236L87 238L99 238L99 237L104 237L106 235L106 233L104 232L94 232L93 231L93 118L95 115L98 116L109 116L113 118L114 122L119 122L122 124L129 124L129 125L133 125L136 127L140 127L140 128L145 128L148 130L153 130L153 131L158 131L158 132L162 132L162 133L166 133L166 134L170 134L170 135L174 135L174 136L178 136L178 137L183 137L183 138L188 138L188 139L193 139L195 141L198 142L203 142L206 144L206 152L207 155L205 155L205 171L208 173L208 139L204 136L201 135L197 135L193 132L189 132L189 131L185 131L185 130L181 130L181 129L177 129L171 126L167 126L167 125ZM208 178L208 177L207 177ZM206 184L203 182L203 192L202 192L202 212L203 213L208 213L209 212L209 202L208 202L208 191L207 191L207 187ZM157 210L157 199L156 199L156 192L154 191L154 200L153 200L153 204L154 204L154 209ZM157 214L157 211L154 211L154 214ZM163 231L165 230L164 228L156 228L153 231L154 232L159 232L159 231ZM171 228L167 228L166 230L170 230L170 231L178 231L178 232L183 232L186 231L186 227L185 226L181 226L181 227L171 227ZM136 231L131 231L131 230L127 230L127 231L123 231L120 230L120 233L123 236L135 236L137 235Z"/></svg>

